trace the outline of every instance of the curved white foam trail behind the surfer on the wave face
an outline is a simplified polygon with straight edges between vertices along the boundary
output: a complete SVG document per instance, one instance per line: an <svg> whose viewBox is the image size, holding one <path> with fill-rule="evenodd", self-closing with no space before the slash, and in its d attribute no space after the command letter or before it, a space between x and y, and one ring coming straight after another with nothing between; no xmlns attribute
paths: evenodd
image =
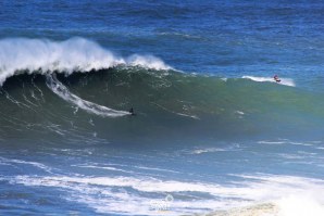
<svg viewBox="0 0 324 216"><path fill-rule="evenodd" d="M63 100L77 105L77 107L87 111L88 113L94 113L96 115L101 115L104 117L120 117L129 115L129 112L116 111L78 98L77 96L70 92L68 89L58 80L54 74L47 75L46 78L47 86L55 94L58 94Z"/></svg>

